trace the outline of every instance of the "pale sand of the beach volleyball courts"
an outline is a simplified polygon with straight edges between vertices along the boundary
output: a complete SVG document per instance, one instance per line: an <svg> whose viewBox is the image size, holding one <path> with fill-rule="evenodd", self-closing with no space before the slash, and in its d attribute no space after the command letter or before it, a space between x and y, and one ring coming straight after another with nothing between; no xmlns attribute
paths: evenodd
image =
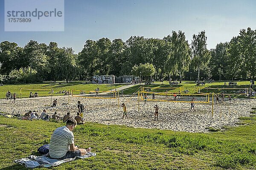
<svg viewBox="0 0 256 170"><path fill-rule="evenodd" d="M72 116L77 113L77 101L84 104L84 120L86 122L98 122L105 125L127 125L130 127L157 128L174 131L186 132L207 132L207 127L221 129L224 126L237 126L239 117L249 116L250 109L255 107L256 100L251 99L233 99L231 103L219 103L214 105L212 116L211 104L195 104L196 111L189 111L190 103L180 102L140 102L140 111L138 111L137 98L120 97L119 103L127 104L129 119L122 118L122 108L117 105L117 99L88 99L81 97L68 96L55 97L58 101L56 108L50 107L51 99L49 97L39 97L33 99L16 100L15 104L11 101L0 100L1 111L12 113L15 109L24 114L29 110L38 111L40 114L45 108L47 113L57 111L58 115L64 116L70 111ZM154 121L154 105L159 106L158 121ZM16 112L15 111L15 112Z"/></svg>

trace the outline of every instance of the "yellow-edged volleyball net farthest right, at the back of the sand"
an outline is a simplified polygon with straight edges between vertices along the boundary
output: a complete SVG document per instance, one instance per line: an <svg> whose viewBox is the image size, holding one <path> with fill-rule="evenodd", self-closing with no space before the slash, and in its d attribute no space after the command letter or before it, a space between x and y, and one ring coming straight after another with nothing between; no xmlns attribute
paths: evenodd
<svg viewBox="0 0 256 170"><path fill-rule="evenodd" d="M199 88L200 94L221 94L224 95L246 95L250 92L250 88Z"/></svg>

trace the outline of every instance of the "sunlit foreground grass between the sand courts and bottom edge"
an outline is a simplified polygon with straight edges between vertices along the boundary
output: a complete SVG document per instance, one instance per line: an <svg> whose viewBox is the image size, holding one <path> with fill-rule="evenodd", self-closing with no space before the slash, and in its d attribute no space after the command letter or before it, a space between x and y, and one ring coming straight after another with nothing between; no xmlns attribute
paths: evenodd
<svg viewBox="0 0 256 170"><path fill-rule="evenodd" d="M136 129L87 122L74 130L75 144L92 147L97 156L35 170L222 170L256 166L256 117L240 118L239 127L214 133ZM61 123L0 116L0 169L26 170L13 164L49 143ZM4 153L4 154L3 154Z"/></svg>

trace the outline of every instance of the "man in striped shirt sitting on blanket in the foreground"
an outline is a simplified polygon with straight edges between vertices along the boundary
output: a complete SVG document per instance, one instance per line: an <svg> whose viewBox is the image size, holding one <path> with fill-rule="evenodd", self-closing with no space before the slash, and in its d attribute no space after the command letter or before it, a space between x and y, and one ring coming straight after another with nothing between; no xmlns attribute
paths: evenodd
<svg viewBox="0 0 256 170"><path fill-rule="evenodd" d="M58 127L54 130L50 140L50 157L55 159L68 159L86 155L87 152L90 152L90 147L87 149L78 149L78 147L75 146L72 130L76 125L76 119L70 118L67 119L66 126Z"/></svg>

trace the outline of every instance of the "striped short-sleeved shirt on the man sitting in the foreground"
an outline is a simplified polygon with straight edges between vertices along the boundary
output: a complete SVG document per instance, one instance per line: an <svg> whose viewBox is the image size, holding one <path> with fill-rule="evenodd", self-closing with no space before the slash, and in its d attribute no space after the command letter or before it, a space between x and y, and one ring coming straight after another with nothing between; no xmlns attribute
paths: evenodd
<svg viewBox="0 0 256 170"><path fill-rule="evenodd" d="M66 126L54 130L49 147L49 154L52 158L61 158L67 151L69 145L74 143L74 134Z"/></svg>

